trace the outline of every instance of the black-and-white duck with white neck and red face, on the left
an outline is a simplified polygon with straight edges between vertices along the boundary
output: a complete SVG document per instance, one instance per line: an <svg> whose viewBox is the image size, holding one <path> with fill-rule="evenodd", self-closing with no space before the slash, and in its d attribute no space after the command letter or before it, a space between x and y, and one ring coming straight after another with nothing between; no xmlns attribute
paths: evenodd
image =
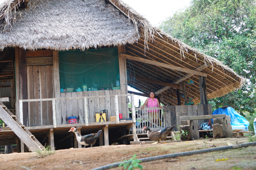
<svg viewBox="0 0 256 170"><path fill-rule="evenodd" d="M88 145L94 145L94 143L96 142L96 140L100 137L100 134L102 132L102 130L99 130L97 133L91 133L91 134L87 134L82 136L76 128L72 127L69 132L72 131L76 134L76 139L77 142L80 143L81 145L88 146Z"/></svg>

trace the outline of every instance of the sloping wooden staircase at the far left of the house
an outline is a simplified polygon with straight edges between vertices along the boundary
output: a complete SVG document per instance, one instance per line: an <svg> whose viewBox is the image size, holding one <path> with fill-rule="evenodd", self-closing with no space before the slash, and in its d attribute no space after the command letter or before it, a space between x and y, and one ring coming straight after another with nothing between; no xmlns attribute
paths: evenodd
<svg viewBox="0 0 256 170"><path fill-rule="evenodd" d="M0 102L0 119L8 125L9 128L24 142L24 144L32 151L42 151L44 146L35 138L35 136L10 112L7 107Z"/></svg>

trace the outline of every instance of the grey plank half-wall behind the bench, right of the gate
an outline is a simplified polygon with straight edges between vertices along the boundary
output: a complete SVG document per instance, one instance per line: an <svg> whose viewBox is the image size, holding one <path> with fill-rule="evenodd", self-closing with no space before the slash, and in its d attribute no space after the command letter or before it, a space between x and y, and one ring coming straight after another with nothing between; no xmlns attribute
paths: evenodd
<svg viewBox="0 0 256 170"><path fill-rule="evenodd" d="M168 106L165 110L165 126L180 125L181 116L202 116L212 115L212 105L182 105L182 106ZM209 120L198 120L198 126ZM199 128L198 127L198 128ZM174 128L178 130L177 127Z"/></svg>

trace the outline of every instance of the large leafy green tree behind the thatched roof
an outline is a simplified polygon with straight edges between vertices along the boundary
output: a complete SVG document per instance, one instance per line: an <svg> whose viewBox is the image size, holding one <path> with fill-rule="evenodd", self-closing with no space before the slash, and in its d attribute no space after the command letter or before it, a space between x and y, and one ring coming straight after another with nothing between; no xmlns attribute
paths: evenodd
<svg viewBox="0 0 256 170"><path fill-rule="evenodd" d="M246 78L241 89L210 99L213 108L229 105L241 115L255 113L255 0L192 0L159 27Z"/></svg>

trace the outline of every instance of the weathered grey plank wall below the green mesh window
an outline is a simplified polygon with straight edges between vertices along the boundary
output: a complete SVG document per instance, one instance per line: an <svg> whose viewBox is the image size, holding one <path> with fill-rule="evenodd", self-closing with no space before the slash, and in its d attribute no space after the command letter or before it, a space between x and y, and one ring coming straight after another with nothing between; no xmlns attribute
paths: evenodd
<svg viewBox="0 0 256 170"><path fill-rule="evenodd" d="M86 91L86 92L70 92L61 93L61 97L87 97L87 96L108 96L121 94L121 89L118 90L98 90L98 91ZM76 116L78 123L85 123L84 119L84 99L76 100L61 100L61 122L62 124L68 124L68 117ZM121 97L118 98L119 113L124 112L123 108L127 108L126 103L123 106ZM116 116L115 112L115 98L94 98L87 99L87 111L88 121L95 122L95 113L99 113L102 110L108 110L109 121L110 116ZM126 113L126 109L125 112Z"/></svg>

